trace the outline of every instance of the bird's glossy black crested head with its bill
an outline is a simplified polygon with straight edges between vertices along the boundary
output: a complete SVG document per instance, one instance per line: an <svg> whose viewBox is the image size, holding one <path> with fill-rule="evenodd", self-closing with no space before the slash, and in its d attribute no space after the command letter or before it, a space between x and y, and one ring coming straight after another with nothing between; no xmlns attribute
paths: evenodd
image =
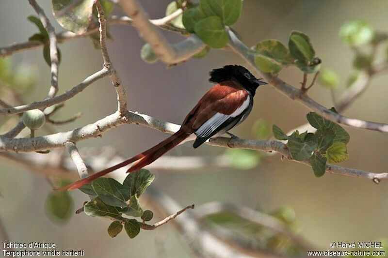
<svg viewBox="0 0 388 258"><path fill-rule="evenodd" d="M220 83L223 81L236 81L249 91L252 96L255 95L256 89L260 85L267 84L261 80L258 80L251 74L245 67L241 65L225 65L222 68L213 69L210 73L210 82Z"/></svg>

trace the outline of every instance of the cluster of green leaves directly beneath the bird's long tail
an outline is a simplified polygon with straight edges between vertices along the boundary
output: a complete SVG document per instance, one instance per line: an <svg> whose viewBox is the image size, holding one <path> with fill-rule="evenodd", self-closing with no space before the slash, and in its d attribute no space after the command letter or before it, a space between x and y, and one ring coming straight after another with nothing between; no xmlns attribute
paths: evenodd
<svg viewBox="0 0 388 258"><path fill-rule="evenodd" d="M146 169L130 173L121 184L112 178L98 178L80 188L82 192L93 199L84 205L84 211L89 216L110 217L115 219L108 228L111 237L117 236L123 226L130 238L140 232L140 223L130 217L141 217L142 221L152 219L151 211L144 211L138 197L154 181L155 176ZM123 215L125 215L123 217Z"/></svg>

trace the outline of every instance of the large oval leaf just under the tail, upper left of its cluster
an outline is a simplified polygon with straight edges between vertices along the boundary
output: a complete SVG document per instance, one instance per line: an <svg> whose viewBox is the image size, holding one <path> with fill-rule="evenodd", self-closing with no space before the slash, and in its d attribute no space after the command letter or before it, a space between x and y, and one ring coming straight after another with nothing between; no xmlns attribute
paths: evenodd
<svg viewBox="0 0 388 258"><path fill-rule="evenodd" d="M125 207L126 201L131 196L128 188L113 178L97 178L92 182L92 187L98 197L111 206Z"/></svg>

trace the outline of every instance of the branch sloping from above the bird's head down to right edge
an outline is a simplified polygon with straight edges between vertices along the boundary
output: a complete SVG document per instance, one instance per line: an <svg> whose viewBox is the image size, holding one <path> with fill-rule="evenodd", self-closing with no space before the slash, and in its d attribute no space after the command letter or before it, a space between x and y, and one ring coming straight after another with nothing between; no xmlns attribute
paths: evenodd
<svg viewBox="0 0 388 258"><path fill-rule="evenodd" d="M307 106L311 110L317 112L319 115L324 117L327 120L337 122L340 124L352 126L355 128L362 128L362 129L368 129L368 130L375 130L379 132L388 132L388 124L385 123L377 123L372 121L363 121L359 119L354 118L348 118L342 115L339 115L326 107L322 106L321 104L315 102L313 99L307 96L307 94L303 94L302 91L299 89L294 88L293 86L287 84L286 82L279 79L277 76L274 76L272 74L263 73L261 72L255 65L254 62L254 56L251 54L251 51L249 51L249 48L245 46L233 33L232 30L228 30L229 35L229 46L238 53L245 61L247 61L254 71L256 71L258 74L262 75L264 78L266 78L269 83L271 83L276 90L280 91L284 95L288 96L292 100L297 100L303 105Z"/></svg>

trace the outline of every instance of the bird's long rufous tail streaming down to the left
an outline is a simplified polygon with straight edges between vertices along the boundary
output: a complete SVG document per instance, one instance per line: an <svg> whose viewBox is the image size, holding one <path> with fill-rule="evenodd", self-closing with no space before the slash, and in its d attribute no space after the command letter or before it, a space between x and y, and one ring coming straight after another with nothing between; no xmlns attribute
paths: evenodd
<svg viewBox="0 0 388 258"><path fill-rule="evenodd" d="M156 159L158 159L160 156L162 156L164 153L168 152L175 146L177 146L180 142L185 140L187 137L189 137L190 134L184 132L183 130L179 130L172 136L168 137L167 139L163 140L161 143L155 145L154 147L146 150L145 152L139 153L136 156L133 156L132 158L125 160L113 167L108 167L100 172L97 172L91 176L88 176L86 178L83 178L77 182L68 184L64 187L57 188L56 190L74 190L77 188L80 188L82 185L85 185L87 183L92 182L93 180L102 177L120 167L127 166L128 164L136 162L132 167L130 167L127 170L127 173L139 170L142 167L147 166L148 164L151 164L154 162Z"/></svg>

